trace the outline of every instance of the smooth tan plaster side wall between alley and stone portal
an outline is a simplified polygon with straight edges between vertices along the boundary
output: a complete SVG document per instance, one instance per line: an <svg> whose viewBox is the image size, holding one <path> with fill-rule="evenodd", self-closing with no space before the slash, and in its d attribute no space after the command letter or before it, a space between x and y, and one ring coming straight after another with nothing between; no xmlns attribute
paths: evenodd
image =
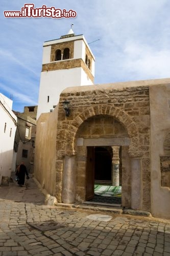
<svg viewBox="0 0 170 256"><path fill-rule="evenodd" d="M35 143L34 176L51 195L55 195L56 186L57 117L58 107L40 115Z"/></svg>

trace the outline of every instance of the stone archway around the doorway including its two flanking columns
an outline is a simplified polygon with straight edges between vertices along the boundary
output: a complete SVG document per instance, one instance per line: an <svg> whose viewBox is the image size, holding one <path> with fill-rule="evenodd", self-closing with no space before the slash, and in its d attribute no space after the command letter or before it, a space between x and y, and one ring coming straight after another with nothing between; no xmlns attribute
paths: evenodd
<svg viewBox="0 0 170 256"><path fill-rule="evenodd" d="M126 127L128 137L130 139L130 144L128 144L128 157L131 157L132 173L134 173L134 179L132 179L132 206L133 208L141 208L142 204L142 177L141 177L141 164L140 158L142 156L142 148L143 145L140 142L139 138L139 128L138 125L134 122L134 120L123 110L119 108L115 108L112 105L98 105L91 106L90 108L86 108L86 110L79 112L77 116L75 116L71 120L61 120L58 122L58 132L57 132L57 161L56 161L56 172L57 176L60 176L61 179L57 179L56 182L56 191L57 191L57 199L59 202L63 201L65 203L73 203L75 200L82 201L82 197L80 193L76 193L75 190L75 182L76 182L76 174L75 174L75 166L77 164L77 143L81 146L81 138L78 140L78 130L81 124L86 122L87 119L96 117L96 116L107 116L112 117L115 120L118 120L124 127ZM67 130L65 130L65 127ZM62 139L62 141L61 141ZM124 143L126 143L126 138L122 138ZM95 140L95 139L94 139ZM107 138L104 139L105 142ZM109 138L110 140L110 138ZM84 143L84 142L83 142ZM108 145L108 144L107 144ZM112 144L113 145L113 144ZM120 144L121 145L121 144ZM127 147L126 147L127 151ZM126 153L126 155L127 155ZM84 154L84 158L86 155ZM63 159L64 158L64 159ZM69 164L68 164L69 163ZM82 163L82 172L84 172L84 163ZM66 167L65 167L66 166ZM70 173L68 178L66 178L66 173ZM80 170L81 172L81 170ZM82 173L82 177L83 177ZM72 177L70 179L70 177ZM62 182L64 181L64 182ZM138 181L136 187L135 183ZM82 178L82 181L84 179ZM134 191L136 190L136 194ZM83 191L84 193L84 191ZM62 194L62 198L61 198ZM70 196L71 195L71 198ZM134 196L133 196L134 195ZM137 195L137 196L136 196ZM125 193L125 198L127 194ZM137 198L135 200L135 198ZM140 199L140 200L139 200ZM126 201L126 200L125 200ZM129 200L130 203L130 200Z"/></svg>

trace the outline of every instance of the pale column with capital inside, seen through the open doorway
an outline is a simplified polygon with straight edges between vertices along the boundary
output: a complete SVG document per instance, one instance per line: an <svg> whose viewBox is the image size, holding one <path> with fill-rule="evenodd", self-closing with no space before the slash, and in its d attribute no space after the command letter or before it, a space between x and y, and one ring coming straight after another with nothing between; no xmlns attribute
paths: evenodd
<svg viewBox="0 0 170 256"><path fill-rule="evenodd" d="M112 146L112 186L119 186L119 148L120 146Z"/></svg>

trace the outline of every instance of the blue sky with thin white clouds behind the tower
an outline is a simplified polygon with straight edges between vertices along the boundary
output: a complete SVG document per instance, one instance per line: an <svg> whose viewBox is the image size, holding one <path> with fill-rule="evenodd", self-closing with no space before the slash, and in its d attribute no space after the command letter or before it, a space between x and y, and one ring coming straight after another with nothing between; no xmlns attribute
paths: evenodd
<svg viewBox="0 0 170 256"><path fill-rule="evenodd" d="M34 0L56 9L75 10L76 18L5 18L22 0L1 0L0 92L13 98L13 110L36 105L44 41L84 34L95 56L94 83L170 77L169 0Z"/></svg>

